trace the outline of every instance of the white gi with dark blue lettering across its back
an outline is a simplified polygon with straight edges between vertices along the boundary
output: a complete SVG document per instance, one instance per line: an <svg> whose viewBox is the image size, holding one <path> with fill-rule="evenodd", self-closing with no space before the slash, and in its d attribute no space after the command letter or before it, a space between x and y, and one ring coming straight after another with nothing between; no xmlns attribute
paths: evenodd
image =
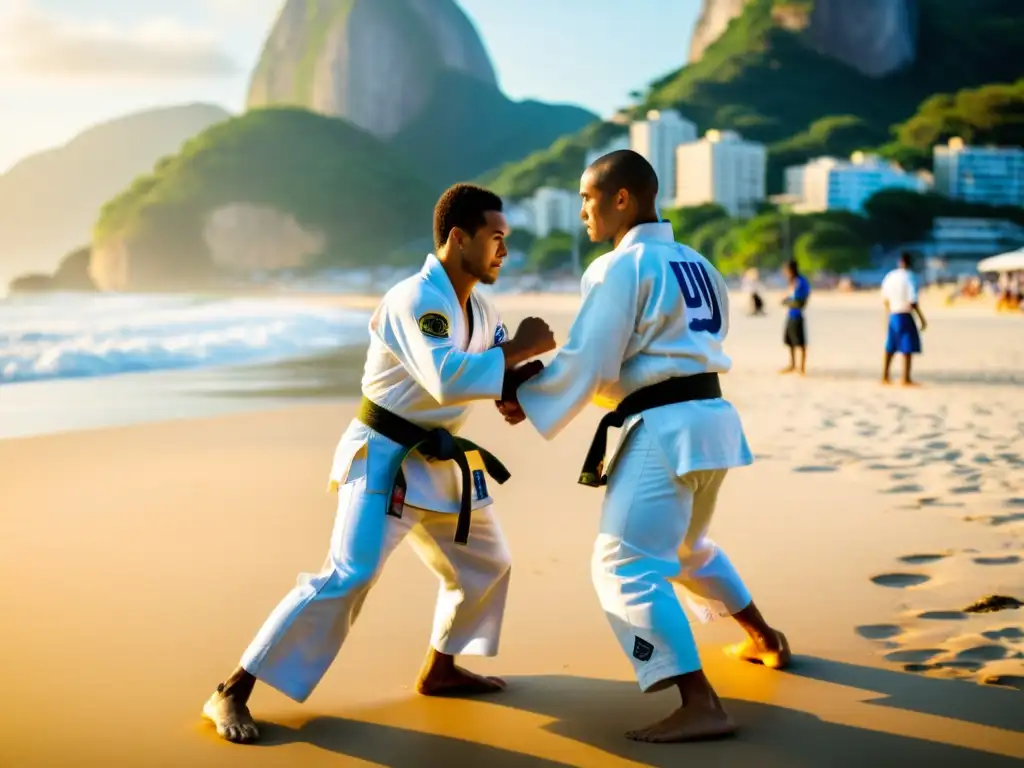
<svg viewBox="0 0 1024 768"><path fill-rule="evenodd" d="M613 409L673 377L726 373L728 293L711 263L675 242L666 222L640 224L583 275L568 340L526 381L518 399L553 438L592 400ZM585 451L581 451L583 459ZM708 537L731 467L753 463L739 415L722 398L648 410L624 424L608 459L593 580L640 687L700 669L673 585L701 621L751 602L725 553Z"/></svg>

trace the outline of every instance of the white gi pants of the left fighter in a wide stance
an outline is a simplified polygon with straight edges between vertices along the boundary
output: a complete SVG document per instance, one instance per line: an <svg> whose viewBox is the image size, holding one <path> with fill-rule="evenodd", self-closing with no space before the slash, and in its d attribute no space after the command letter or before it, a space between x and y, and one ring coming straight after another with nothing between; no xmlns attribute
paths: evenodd
<svg viewBox="0 0 1024 768"><path fill-rule="evenodd" d="M493 506L473 512L469 544L455 544L458 515L404 508L386 514L390 497L368 493L366 476L338 489L327 562L302 574L242 656L241 666L296 701L304 701L334 662L384 562L403 539L440 581L433 647L441 653L498 652L511 560Z"/></svg>

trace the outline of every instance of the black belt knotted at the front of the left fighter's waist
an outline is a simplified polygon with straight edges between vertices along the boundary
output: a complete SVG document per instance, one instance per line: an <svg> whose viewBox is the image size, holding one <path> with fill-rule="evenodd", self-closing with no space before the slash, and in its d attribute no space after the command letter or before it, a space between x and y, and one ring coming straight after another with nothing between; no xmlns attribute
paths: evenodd
<svg viewBox="0 0 1024 768"><path fill-rule="evenodd" d="M396 485L404 487L406 476L401 471L401 463L414 451L419 451L420 455L434 461L454 461L462 471L462 501L459 506L459 521L456 523L455 542L456 544L466 544L469 542L469 523L472 513L471 492L473 478L469 471L469 460L466 453L476 451L483 460L483 468L499 484L504 483L512 475L498 459L489 452L484 451L472 440L464 437L456 437L446 429L435 427L425 429L411 421L406 421L400 416L392 414L390 411L381 408L373 400L364 397L359 404L359 412L356 419L361 421L375 432L384 435L389 440L397 442L406 449L401 459L397 463L397 471L390 484L390 493L394 494ZM390 507L389 507L390 509Z"/></svg>

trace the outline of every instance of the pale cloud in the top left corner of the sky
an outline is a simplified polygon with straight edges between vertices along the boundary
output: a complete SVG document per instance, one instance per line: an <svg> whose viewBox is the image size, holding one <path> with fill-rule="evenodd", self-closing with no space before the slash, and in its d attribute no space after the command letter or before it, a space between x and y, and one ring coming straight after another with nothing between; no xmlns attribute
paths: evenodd
<svg viewBox="0 0 1024 768"><path fill-rule="evenodd" d="M226 77L239 68L214 35L173 18L119 26L46 12L20 0L0 14L0 71L137 80Z"/></svg>

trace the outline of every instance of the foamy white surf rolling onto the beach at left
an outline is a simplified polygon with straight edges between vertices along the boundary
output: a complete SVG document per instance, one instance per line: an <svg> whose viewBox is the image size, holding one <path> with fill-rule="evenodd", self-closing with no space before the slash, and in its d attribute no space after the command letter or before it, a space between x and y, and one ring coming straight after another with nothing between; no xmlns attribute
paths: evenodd
<svg viewBox="0 0 1024 768"><path fill-rule="evenodd" d="M365 343L368 314L167 296L0 302L0 384L272 361Z"/></svg>

